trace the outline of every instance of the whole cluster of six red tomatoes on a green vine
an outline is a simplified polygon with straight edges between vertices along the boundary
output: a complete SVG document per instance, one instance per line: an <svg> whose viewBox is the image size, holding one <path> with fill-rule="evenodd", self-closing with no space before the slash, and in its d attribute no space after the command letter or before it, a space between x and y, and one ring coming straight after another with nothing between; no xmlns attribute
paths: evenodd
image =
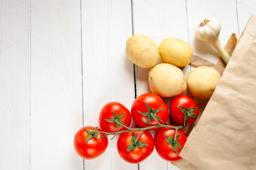
<svg viewBox="0 0 256 170"><path fill-rule="evenodd" d="M128 163L140 163L151 155L154 148L166 161L182 159L179 154L186 142L181 130L193 124L198 117L198 106L187 95L178 95L169 104L175 125L166 124L169 110L161 97L145 93L132 103L131 110L119 102L109 102L99 113L99 128L85 126L74 136L74 149L83 159L95 159L108 146L108 135L117 135L117 151ZM136 127L130 128L132 120ZM155 131L153 137L150 131Z"/></svg>

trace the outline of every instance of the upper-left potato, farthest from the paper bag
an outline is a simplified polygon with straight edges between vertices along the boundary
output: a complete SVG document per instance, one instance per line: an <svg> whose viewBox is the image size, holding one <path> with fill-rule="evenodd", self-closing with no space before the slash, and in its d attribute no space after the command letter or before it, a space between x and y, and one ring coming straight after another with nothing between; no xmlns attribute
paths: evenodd
<svg viewBox="0 0 256 170"><path fill-rule="evenodd" d="M135 34L126 40L126 55L135 65L151 68L157 64L159 50L157 44L145 35Z"/></svg>

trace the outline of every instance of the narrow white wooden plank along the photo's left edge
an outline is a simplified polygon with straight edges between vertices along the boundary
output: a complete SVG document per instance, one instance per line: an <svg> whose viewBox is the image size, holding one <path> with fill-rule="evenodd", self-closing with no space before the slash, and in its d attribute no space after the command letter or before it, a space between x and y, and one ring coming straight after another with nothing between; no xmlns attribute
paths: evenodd
<svg viewBox="0 0 256 170"><path fill-rule="evenodd" d="M29 0L0 2L0 169L29 169Z"/></svg>

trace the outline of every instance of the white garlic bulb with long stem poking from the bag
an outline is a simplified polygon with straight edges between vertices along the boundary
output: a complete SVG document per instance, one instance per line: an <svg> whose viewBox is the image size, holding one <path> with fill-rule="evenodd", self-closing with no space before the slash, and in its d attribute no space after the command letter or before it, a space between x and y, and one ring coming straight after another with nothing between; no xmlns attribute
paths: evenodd
<svg viewBox="0 0 256 170"><path fill-rule="evenodd" d="M195 29L195 37L198 38L198 40L211 44L227 64L229 62L230 56L220 43L220 30L220 22L217 20L204 19Z"/></svg>

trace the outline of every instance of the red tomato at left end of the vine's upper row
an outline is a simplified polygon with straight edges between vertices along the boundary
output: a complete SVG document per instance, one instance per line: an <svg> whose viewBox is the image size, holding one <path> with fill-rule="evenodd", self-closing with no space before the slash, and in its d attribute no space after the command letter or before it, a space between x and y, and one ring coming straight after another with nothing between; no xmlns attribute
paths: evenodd
<svg viewBox="0 0 256 170"><path fill-rule="evenodd" d="M117 132L126 130L116 121L129 127L132 117L128 108L119 102L105 104L99 113L99 125L104 132Z"/></svg>

